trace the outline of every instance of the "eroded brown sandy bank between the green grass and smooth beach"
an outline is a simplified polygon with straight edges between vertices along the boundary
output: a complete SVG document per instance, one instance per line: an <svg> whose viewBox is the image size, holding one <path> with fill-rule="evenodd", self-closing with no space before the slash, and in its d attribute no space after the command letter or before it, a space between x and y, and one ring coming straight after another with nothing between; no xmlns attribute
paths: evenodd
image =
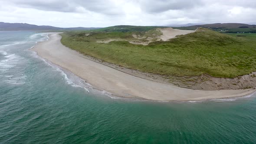
<svg viewBox="0 0 256 144"><path fill-rule="evenodd" d="M79 51L78 51L79 52ZM81 53L81 52L79 52ZM133 75L142 79L151 80L154 82L164 83L168 85L175 85L181 88L188 88L194 90L225 90L225 89L248 89L256 87L256 72L252 72L248 75L241 75L236 78L218 78L208 74L202 74L199 76L165 76L158 75L149 72L141 72L137 69L129 69L121 65L115 65L113 63L106 62L101 59L83 54L85 59L98 62L102 65L106 65L118 71Z"/></svg>

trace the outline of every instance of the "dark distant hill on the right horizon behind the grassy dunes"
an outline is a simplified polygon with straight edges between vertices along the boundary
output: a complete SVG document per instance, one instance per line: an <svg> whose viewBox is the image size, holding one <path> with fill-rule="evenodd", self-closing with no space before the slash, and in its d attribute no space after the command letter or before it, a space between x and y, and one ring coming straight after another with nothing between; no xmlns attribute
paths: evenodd
<svg viewBox="0 0 256 144"><path fill-rule="evenodd" d="M213 29L221 33L256 33L256 25L244 23L213 23L194 26L174 27L175 29L196 29L198 27Z"/></svg>

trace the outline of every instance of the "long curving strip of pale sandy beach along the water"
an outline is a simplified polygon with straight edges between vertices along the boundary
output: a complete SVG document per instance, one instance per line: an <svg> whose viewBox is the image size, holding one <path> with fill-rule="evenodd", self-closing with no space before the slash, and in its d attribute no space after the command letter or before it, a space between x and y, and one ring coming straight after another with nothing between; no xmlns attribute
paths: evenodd
<svg viewBox="0 0 256 144"><path fill-rule="evenodd" d="M114 96L154 101L197 101L241 97L256 92L255 88L217 91L192 90L141 79L85 59L85 56L79 52L63 46L60 42L61 36L57 33L49 34L49 38L48 41L38 43L31 50Z"/></svg>

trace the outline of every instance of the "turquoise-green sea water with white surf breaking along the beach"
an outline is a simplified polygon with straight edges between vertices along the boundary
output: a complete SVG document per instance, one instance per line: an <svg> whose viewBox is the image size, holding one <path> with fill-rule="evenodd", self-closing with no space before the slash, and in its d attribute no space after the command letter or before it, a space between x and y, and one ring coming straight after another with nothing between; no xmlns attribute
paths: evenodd
<svg viewBox="0 0 256 144"><path fill-rule="evenodd" d="M111 98L27 50L46 39L0 32L0 144L256 143L255 95L179 103Z"/></svg>

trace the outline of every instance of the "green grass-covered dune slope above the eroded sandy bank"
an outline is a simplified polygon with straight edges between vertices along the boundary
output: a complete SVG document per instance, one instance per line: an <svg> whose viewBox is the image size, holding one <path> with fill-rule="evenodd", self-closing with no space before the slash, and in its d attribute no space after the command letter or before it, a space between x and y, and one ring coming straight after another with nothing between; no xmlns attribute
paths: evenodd
<svg viewBox="0 0 256 144"><path fill-rule="evenodd" d="M161 75L208 73L233 78L256 71L256 35L237 37L206 30L148 46L125 41L95 43L95 39L108 36L130 38L131 34L114 32L85 36L85 33L69 32L61 34L61 41L72 49L98 59Z"/></svg>

